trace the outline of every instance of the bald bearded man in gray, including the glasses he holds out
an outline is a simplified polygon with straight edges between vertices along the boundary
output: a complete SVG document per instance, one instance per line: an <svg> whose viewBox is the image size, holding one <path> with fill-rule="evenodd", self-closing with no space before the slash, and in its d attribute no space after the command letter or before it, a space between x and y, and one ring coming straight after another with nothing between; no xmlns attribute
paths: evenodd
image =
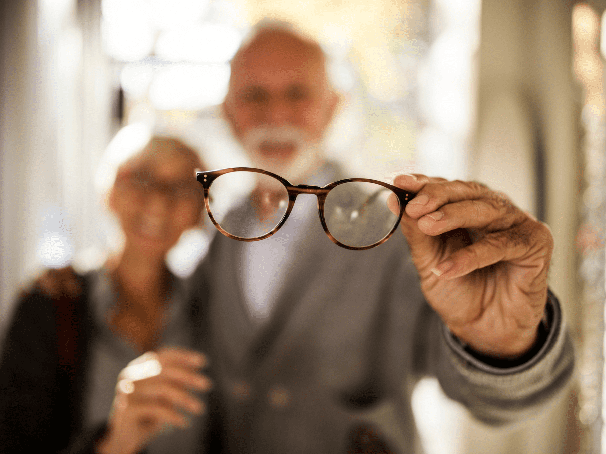
<svg viewBox="0 0 606 454"><path fill-rule="evenodd" d="M231 239L193 277L226 452L419 452L423 375L492 424L553 398L573 352L550 229L475 182L343 180L320 146L336 105L321 48L288 25L259 26L232 61L224 113L255 169L198 174Z"/></svg>

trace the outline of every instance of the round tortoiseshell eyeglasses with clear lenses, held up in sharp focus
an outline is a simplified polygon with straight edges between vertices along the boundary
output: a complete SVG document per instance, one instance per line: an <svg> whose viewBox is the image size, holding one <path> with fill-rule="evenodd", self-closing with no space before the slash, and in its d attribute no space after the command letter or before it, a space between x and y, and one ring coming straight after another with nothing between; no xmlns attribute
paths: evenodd
<svg viewBox="0 0 606 454"><path fill-rule="evenodd" d="M367 178L348 178L324 187L292 185L275 173L237 167L198 171L204 187L204 205L215 227L224 235L256 241L273 235L288 219L299 194L318 197L318 215L334 243L347 249L370 249L385 242L404 214L413 192ZM395 195L399 213L387 200Z"/></svg>

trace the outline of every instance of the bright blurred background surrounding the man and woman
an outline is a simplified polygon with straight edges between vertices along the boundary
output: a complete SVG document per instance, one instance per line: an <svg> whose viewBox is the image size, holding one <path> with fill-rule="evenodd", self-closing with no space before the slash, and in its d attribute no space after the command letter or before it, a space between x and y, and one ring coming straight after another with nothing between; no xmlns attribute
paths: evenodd
<svg viewBox="0 0 606 454"><path fill-rule="evenodd" d="M523 426L497 430L424 380L413 406L427 453L606 452L605 7L3 0L0 334L16 292L42 269L96 267L118 241L99 195L104 151L118 131L126 142L138 125L176 134L210 168L247 163L218 105L242 38L259 19L277 17L328 56L341 98L325 140L333 159L386 181L411 171L480 180L556 237L550 285L577 343L573 386ZM207 242L204 231L185 235L173 269L186 275Z"/></svg>

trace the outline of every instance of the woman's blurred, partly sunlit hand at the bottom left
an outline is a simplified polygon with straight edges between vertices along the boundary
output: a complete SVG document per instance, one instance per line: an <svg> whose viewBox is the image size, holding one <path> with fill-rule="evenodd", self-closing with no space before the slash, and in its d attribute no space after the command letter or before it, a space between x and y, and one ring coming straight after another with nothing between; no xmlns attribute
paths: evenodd
<svg viewBox="0 0 606 454"><path fill-rule="evenodd" d="M183 410L204 412L204 404L191 391L210 389L210 380L196 372L206 363L204 355L175 347L132 361L118 376L108 430L96 452L136 453L166 427L187 427Z"/></svg>

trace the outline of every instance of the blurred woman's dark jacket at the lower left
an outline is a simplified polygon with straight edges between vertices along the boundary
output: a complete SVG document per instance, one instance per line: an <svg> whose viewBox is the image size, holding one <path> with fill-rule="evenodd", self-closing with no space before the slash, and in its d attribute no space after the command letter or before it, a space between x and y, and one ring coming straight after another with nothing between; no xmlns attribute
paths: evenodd
<svg viewBox="0 0 606 454"><path fill-rule="evenodd" d="M92 276L79 280L76 299L53 300L36 289L19 298L0 355L0 454L92 453L104 433L105 424L82 427L95 323ZM196 332L204 333L203 306L188 307ZM205 350L202 335L196 343ZM201 447L209 450L216 447Z"/></svg>

